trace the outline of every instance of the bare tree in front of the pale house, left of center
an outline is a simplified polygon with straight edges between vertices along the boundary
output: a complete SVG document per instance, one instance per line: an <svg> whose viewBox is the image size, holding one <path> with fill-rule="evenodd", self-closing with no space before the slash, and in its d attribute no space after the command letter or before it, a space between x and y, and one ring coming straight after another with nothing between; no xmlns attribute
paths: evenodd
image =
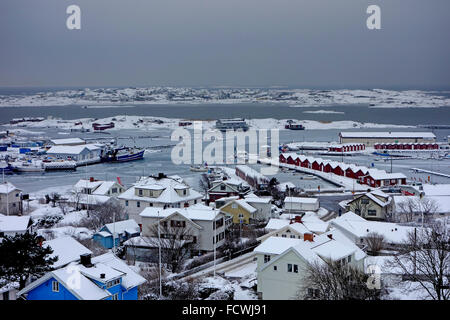
<svg viewBox="0 0 450 320"><path fill-rule="evenodd" d="M158 223L148 227L149 237L144 238L154 248L161 246L161 261L172 272L177 272L197 248L193 229L187 225L170 226L161 221L158 238Z"/></svg>

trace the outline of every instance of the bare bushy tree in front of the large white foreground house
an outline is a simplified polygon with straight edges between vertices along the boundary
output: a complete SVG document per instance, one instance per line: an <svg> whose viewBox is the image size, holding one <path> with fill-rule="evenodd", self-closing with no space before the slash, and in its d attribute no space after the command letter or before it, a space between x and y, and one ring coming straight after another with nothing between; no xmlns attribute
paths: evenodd
<svg viewBox="0 0 450 320"><path fill-rule="evenodd" d="M369 285L370 276L340 262L308 264L297 299L378 300L382 290Z"/></svg>

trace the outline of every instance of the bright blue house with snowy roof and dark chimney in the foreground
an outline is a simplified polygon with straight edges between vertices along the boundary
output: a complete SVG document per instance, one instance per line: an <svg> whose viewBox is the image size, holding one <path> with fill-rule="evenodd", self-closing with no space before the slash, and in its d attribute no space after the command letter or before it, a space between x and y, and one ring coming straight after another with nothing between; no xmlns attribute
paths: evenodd
<svg viewBox="0 0 450 320"><path fill-rule="evenodd" d="M125 262L106 253L48 272L18 292L27 300L137 300L146 280Z"/></svg>

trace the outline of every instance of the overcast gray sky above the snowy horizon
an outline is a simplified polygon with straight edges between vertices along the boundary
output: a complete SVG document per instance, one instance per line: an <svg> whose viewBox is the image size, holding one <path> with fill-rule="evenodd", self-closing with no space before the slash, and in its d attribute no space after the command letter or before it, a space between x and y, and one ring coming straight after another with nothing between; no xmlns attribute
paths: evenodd
<svg viewBox="0 0 450 320"><path fill-rule="evenodd" d="M382 30L366 28L369 4ZM1 0L0 86L450 87L449 12L448 0Z"/></svg>

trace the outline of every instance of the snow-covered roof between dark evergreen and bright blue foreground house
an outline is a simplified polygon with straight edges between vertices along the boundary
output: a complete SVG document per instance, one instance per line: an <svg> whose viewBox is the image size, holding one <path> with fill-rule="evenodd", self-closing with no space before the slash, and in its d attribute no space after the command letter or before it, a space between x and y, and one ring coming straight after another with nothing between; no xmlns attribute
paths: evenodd
<svg viewBox="0 0 450 320"><path fill-rule="evenodd" d="M92 251L83 246L72 237L61 237L53 240L44 241L43 246L49 246L53 249L51 257L58 257L58 260L52 265L54 268L60 268L70 262L80 260L80 255Z"/></svg>

